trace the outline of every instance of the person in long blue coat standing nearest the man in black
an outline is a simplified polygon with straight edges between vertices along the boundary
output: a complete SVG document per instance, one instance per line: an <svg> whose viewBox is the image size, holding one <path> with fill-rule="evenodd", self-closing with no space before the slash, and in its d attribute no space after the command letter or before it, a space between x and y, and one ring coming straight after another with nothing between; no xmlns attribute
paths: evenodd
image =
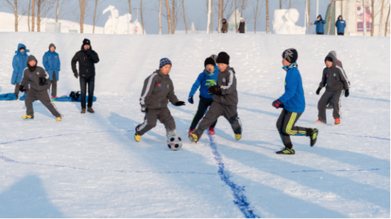
<svg viewBox="0 0 391 219"><path fill-rule="evenodd" d="M55 52L55 45L50 43L49 51L45 52L43 55L43 67L45 67L45 71L49 74L48 81L48 89L50 90L50 86L52 87L52 97L57 96L57 81L59 79L60 72L60 57L58 53Z"/></svg>

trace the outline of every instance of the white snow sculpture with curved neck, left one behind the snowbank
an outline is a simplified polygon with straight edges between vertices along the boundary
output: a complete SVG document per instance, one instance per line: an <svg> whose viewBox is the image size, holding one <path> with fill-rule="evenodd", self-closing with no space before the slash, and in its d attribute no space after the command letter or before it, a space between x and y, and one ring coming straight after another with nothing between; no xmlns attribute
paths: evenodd
<svg viewBox="0 0 391 219"><path fill-rule="evenodd" d="M105 23L105 34L136 33L137 23L139 24L139 21L131 23L132 15L130 13L126 13L123 16L119 16L119 11L111 5L108 6L107 9L103 11L103 13L106 13L107 11L110 11L111 14L109 15L109 19Z"/></svg>

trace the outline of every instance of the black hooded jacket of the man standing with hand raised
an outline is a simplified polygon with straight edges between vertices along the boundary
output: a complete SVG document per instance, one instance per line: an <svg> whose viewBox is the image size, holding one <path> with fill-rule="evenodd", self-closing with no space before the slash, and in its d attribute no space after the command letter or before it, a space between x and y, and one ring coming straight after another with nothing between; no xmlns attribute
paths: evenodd
<svg viewBox="0 0 391 219"><path fill-rule="evenodd" d="M75 56L72 58L72 71L77 72L76 62L79 62L79 75L80 77L94 77L95 76L95 63L99 62L99 57L97 52L92 50L90 46L91 54L87 55L87 51L84 50L84 47L81 47L79 52L76 52Z"/></svg>

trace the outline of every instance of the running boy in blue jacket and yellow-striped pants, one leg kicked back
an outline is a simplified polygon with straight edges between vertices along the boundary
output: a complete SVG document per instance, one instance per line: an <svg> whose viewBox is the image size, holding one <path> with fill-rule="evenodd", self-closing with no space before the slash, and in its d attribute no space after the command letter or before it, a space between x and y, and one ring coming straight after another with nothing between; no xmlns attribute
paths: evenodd
<svg viewBox="0 0 391 219"><path fill-rule="evenodd" d="M273 101L272 106L282 108L281 115L277 120L277 129L284 144L284 149L276 152L277 155L294 155L294 148L289 135L302 135L310 137L311 147L315 145L318 137L318 129L302 128L295 126L304 109L306 100L304 98L304 89L301 82L299 69L297 69L298 54L294 48L282 52L282 64L286 71L285 93L279 99Z"/></svg>

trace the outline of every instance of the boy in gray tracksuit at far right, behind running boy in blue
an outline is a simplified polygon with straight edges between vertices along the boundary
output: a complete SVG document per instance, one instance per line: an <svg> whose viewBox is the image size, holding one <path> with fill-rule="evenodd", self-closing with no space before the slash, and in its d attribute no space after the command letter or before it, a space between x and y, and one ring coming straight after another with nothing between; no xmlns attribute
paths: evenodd
<svg viewBox="0 0 391 219"><path fill-rule="evenodd" d="M326 68L323 69L322 81L319 84L316 94L319 95L321 89L326 86L326 91L318 102L318 123L326 123L326 106L328 101L333 105L334 124L341 123L341 96L345 91L345 96L349 96L349 81L342 67L337 65L336 57L329 53L325 59Z"/></svg>

